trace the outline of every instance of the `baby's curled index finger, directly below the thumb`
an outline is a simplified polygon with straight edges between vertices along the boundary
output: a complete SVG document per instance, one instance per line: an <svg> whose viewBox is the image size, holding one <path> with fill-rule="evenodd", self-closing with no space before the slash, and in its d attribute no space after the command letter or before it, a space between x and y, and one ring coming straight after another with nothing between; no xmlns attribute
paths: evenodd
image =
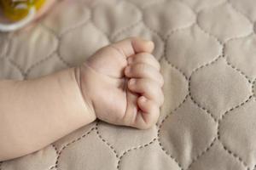
<svg viewBox="0 0 256 170"><path fill-rule="evenodd" d="M160 64L157 59L154 58L154 55L148 53L139 53L128 57L128 65L135 63L144 63L152 65L156 68L157 71L160 71Z"/></svg>

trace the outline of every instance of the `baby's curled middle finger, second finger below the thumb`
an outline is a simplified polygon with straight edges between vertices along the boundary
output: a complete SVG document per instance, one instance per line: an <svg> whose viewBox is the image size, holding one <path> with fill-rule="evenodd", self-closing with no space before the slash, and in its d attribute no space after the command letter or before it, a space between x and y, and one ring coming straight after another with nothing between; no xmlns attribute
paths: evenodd
<svg viewBox="0 0 256 170"><path fill-rule="evenodd" d="M125 67L125 77L130 78L149 78L160 83L160 87L164 84L164 78L152 65L137 63Z"/></svg>

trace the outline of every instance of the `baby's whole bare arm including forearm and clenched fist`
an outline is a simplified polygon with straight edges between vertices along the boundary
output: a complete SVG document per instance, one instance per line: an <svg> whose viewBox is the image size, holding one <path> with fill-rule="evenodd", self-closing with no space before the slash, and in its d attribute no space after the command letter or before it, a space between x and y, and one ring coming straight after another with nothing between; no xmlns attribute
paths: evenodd
<svg viewBox="0 0 256 170"><path fill-rule="evenodd" d="M154 126L164 82L153 49L153 42L127 38L76 68L0 81L0 161L40 150L96 117L140 129Z"/></svg>

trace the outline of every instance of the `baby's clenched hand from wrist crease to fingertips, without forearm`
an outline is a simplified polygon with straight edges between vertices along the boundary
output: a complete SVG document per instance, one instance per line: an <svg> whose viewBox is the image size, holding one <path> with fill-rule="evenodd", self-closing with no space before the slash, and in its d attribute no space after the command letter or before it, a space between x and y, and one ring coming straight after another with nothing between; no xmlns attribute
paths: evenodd
<svg viewBox="0 0 256 170"><path fill-rule="evenodd" d="M164 81L153 49L153 42L131 37L99 49L79 67L84 101L97 118L141 129L157 122Z"/></svg>

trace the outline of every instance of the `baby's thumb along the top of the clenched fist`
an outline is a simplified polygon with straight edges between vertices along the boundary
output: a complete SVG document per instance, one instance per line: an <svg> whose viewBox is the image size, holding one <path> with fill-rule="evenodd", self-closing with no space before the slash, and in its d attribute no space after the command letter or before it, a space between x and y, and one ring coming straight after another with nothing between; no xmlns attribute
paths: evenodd
<svg viewBox="0 0 256 170"><path fill-rule="evenodd" d="M141 37L129 37L111 44L110 47L116 48L120 53L129 57L137 53L152 53L154 42L144 40Z"/></svg>

